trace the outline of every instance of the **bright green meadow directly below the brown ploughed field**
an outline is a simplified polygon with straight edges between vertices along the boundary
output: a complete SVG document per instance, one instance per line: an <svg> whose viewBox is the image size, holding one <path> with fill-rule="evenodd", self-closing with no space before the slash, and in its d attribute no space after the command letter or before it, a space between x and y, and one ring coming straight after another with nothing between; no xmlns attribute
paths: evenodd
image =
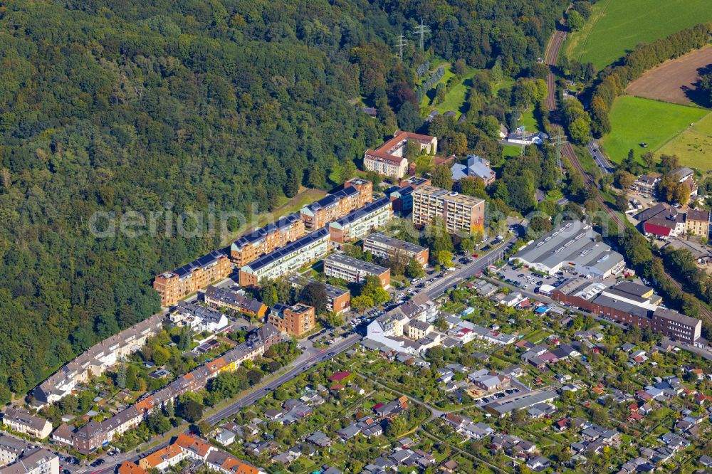
<svg viewBox="0 0 712 474"><path fill-rule="evenodd" d="M708 110L625 95L617 98L611 110L612 132L603 138L605 150L613 162L620 163L633 149L636 157L646 151L657 152L676 138ZM648 144L647 148L639 146Z"/></svg>

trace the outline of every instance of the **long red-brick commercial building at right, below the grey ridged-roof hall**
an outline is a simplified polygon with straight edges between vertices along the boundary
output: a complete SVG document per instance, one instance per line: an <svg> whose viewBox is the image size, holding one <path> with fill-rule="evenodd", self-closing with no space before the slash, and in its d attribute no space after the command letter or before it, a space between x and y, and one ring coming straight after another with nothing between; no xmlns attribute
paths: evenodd
<svg viewBox="0 0 712 474"><path fill-rule="evenodd" d="M661 298L652 288L624 282L607 288L599 282L572 278L551 292L553 300L608 317L624 325L649 327L671 339L694 344L700 338L702 322L660 306Z"/></svg>

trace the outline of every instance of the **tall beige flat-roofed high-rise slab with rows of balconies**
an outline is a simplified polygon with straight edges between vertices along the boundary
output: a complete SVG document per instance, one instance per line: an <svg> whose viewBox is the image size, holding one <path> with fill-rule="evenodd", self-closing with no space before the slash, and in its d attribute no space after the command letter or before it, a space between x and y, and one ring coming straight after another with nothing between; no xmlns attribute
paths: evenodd
<svg viewBox="0 0 712 474"><path fill-rule="evenodd" d="M413 223L424 226L441 218L449 233L482 232L485 201L455 191L420 186L413 192Z"/></svg>

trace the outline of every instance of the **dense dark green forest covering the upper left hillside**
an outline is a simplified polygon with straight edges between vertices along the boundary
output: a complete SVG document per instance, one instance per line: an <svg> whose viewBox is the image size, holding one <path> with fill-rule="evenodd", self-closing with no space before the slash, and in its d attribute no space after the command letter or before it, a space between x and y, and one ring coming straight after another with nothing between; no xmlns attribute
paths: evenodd
<svg viewBox="0 0 712 474"><path fill-rule="evenodd" d="M194 236L97 238L95 211L248 214L300 185L328 189L366 147L422 124L424 60L498 59L515 77L543 56L564 3L4 2L0 399L156 312L152 277L220 244L197 223ZM421 18L426 51L412 36ZM412 40L402 62L400 33Z"/></svg>

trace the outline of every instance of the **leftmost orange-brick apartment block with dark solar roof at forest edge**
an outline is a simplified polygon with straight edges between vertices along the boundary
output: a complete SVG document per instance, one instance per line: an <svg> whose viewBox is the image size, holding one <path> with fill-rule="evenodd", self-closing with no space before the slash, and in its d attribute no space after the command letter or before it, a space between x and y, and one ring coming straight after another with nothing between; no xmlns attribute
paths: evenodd
<svg viewBox="0 0 712 474"><path fill-rule="evenodd" d="M161 305L169 307L210 283L227 278L230 271L230 260L225 253L213 251L172 272L161 273L154 280L153 288L161 295Z"/></svg>

